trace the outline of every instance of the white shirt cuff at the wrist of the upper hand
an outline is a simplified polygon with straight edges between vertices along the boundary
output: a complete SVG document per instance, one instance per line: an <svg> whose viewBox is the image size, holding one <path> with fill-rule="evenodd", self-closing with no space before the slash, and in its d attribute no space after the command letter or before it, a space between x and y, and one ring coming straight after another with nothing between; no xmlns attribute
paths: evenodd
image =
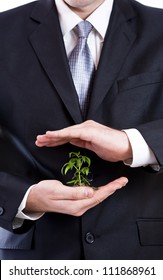
<svg viewBox="0 0 163 280"><path fill-rule="evenodd" d="M141 133L135 128L125 129L123 131L129 138L133 153L133 158L126 160L124 163L130 167L150 165L154 170L159 171L160 166L157 159Z"/></svg>

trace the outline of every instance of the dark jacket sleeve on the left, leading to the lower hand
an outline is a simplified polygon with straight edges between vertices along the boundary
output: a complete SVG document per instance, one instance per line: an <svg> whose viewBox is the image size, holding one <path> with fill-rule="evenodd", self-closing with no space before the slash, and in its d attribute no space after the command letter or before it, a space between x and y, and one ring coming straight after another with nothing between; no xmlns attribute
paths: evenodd
<svg viewBox="0 0 163 280"><path fill-rule="evenodd" d="M20 139L0 127L0 227L12 231L12 223L28 188L52 178Z"/></svg>

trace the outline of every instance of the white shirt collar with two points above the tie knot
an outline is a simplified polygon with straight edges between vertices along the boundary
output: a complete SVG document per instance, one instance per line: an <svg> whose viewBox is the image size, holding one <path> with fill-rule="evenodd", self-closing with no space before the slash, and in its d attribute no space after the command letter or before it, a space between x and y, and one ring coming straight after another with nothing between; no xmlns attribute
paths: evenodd
<svg viewBox="0 0 163 280"><path fill-rule="evenodd" d="M87 20L94 26L104 40L109 24L114 0L105 0ZM75 14L63 0L55 0L63 36L70 32L82 19Z"/></svg>

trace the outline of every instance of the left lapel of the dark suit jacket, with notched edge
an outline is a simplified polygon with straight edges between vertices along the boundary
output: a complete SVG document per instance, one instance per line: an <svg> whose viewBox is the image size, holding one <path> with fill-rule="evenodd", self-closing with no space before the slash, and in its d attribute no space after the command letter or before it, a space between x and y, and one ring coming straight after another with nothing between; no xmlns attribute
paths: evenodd
<svg viewBox="0 0 163 280"><path fill-rule="evenodd" d="M45 16L48 13L48 16ZM42 67L76 123L82 122L78 97L71 78L54 1L40 1L31 18L38 26L30 42Z"/></svg>

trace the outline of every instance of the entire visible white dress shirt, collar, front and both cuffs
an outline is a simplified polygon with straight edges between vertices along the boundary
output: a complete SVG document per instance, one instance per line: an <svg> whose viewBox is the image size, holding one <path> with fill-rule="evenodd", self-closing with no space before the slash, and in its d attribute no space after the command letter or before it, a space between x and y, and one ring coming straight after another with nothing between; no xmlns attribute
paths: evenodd
<svg viewBox="0 0 163 280"><path fill-rule="evenodd" d="M77 44L77 35L75 33L75 26L82 21L82 19L75 14L64 2L64 0L55 0L56 7L59 14L60 26L65 43L67 56L69 57L71 51ZM88 45L94 59L95 67L98 67L100 54L105 39L105 34L110 20L114 0L105 0L88 18L87 20L93 25L93 30L88 37ZM109 75L109 73L108 73ZM134 128L126 129L124 132L127 134L131 143L133 158L124 162L130 167L140 167L152 165L153 168L158 168L157 160L152 150L147 145L146 141L140 132ZM32 186L30 187L30 189ZM35 220L42 215L30 214L25 215L22 211L25 208L26 200L30 189L24 196L22 203L19 206L17 216L15 218L13 227L18 227L22 224L23 219Z"/></svg>

